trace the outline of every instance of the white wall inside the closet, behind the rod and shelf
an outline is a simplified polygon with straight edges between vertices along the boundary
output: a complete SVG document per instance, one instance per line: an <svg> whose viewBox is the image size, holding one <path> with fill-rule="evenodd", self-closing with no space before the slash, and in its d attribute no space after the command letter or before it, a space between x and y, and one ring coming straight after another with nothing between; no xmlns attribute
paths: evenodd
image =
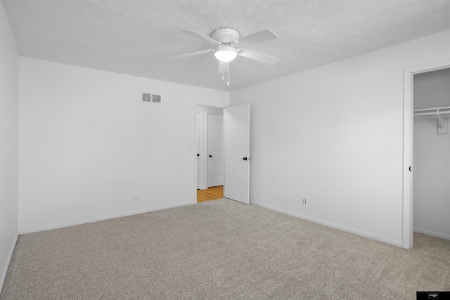
<svg viewBox="0 0 450 300"><path fill-rule="evenodd" d="M450 106L450 69L414 76L414 108ZM414 231L450 240L450 133L414 120Z"/></svg>

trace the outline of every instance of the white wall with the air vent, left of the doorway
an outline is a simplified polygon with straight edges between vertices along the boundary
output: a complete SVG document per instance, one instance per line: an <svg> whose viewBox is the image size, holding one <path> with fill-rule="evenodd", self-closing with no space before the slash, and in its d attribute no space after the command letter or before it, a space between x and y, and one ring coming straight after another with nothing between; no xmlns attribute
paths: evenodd
<svg viewBox="0 0 450 300"><path fill-rule="evenodd" d="M20 232L195 203L195 101L229 93L21 57Z"/></svg>

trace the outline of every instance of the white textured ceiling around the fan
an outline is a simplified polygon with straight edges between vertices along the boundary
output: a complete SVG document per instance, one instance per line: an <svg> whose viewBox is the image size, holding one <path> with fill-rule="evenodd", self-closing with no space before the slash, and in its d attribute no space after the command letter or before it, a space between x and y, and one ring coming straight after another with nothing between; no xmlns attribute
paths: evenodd
<svg viewBox="0 0 450 300"><path fill-rule="evenodd" d="M21 56L231 91L450 29L450 0L2 0ZM277 39L245 48L280 58L238 57L230 86L213 53L180 32Z"/></svg>

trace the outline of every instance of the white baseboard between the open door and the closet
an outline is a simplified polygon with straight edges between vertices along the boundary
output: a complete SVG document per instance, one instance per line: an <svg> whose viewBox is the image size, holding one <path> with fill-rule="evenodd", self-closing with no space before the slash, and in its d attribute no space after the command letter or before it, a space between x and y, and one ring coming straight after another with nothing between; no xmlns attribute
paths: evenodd
<svg viewBox="0 0 450 300"><path fill-rule="evenodd" d="M304 216L302 214L297 214L297 213L295 213L293 211L280 209L278 207L272 207L272 206L267 205L267 204L262 204L262 203L258 203L258 202L254 202L254 201L250 201L250 204L257 205L259 207L264 207L265 209L278 211L278 212L281 212L282 214L288 214L289 216L295 216L296 218L299 218L299 219L304 219L304 220L311 221L311 222L314 222L314 223L319 223L321 225L325 225L325 226L328 226L328 227L331 227L331 228L335 228L335 229L338 229L338 230L346 231L347 233L354 233L355 235L361 235L362 237L368 237L368 238L370 238L372 240L378 240L380 242L385 242L387 244L393 244L394 246L403 247L403 241L390 240L390 239L387 239L385 237L380 237L379 235L373 235L371 233L366 233L365 231L356 230L354 228L340 226L340 225L335 224L335 223L330 223L330 222L327 222L327 221L314 219L314 218L311 218L309 216Z"/></svg>

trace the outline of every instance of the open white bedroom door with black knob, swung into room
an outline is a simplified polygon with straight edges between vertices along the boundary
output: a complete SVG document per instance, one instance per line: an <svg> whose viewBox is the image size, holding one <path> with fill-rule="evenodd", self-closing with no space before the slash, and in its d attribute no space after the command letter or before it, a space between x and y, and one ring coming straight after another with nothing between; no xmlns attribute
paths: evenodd
<svg viewBox="0 0 450 300"><path fill-rule="evenodd" d="M224 109L224 197L250 203L250 104Z"/></svg>

